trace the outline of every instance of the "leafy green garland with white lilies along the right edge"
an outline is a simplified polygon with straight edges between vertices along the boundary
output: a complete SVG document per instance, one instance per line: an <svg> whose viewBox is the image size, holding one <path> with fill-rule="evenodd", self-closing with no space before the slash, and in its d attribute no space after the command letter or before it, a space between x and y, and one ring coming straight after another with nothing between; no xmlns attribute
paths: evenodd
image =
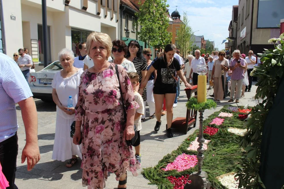
<svg viewBox="0 0 284 189"><path fill-rule="evenodd" d="M247 151L247 155L241 162L242 168L238 169L239 187L246 186L247 189L264 187L259 176L260 148L263 126L272 107L279 82L283 77L283 34L281 36L280 44L275 45L274 43L275 49L264 49L263 54L258 54L262 57L263 64L253 68L251 72L251 76L259 79L256 84L258 88L256 89L255 99L262 100L262 102L252 108L251 118L245 124L248 132L245 133L240 142L240 146Z"/></svg>

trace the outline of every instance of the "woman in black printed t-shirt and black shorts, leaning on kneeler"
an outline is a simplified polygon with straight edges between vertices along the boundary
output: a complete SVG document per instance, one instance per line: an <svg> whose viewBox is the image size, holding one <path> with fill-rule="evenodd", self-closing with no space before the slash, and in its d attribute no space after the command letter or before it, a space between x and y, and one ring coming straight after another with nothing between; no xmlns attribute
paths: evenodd
<svg viewBox="0 0 284 189"><path fill-rule="evenodd" d="M181 78L185 87L192 88L192 86L186 81L185 77L181 73L179 61L174 58L175 46L168 44L164 50L164 56L158 58L154 64L147 71L146 78L142 81L141 87L147 85L152 72L157 70L157 79L154 83L154 99L155 99L155 115L156 115L156 126L155 131L159 131L161 126L161 112L164 98L166 98L166 109L167 109L167 136L168 138L173 137L171 131L171 125L173 121L173 104L176 95L176 82L177 75Z"/></svg>

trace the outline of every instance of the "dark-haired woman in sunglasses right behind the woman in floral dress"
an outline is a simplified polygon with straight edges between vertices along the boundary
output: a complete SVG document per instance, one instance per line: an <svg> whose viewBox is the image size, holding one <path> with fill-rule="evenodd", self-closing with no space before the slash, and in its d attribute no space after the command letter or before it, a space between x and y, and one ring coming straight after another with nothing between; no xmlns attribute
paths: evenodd
<svg viewBox="0 0 284 189"><path fill-rule="evenodd" d="M120 64L124 67L127 73L136 72L134 64L125 58L128 48L124 41L122 40L114 40L112 41L112 54L114 59L109 61L114 64Z"/></svg>

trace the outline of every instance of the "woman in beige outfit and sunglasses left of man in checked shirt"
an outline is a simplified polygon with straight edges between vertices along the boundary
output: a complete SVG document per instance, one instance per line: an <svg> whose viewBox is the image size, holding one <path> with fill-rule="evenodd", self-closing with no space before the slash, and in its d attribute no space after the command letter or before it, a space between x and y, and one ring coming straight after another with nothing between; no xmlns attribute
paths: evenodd
<svg viewBox="0 0 284 189"><path fill-rule="evenodd" d="M224 88L226 84L226 73L229 70L229 60L224 58L225 51L218 52L218 59L213 64L211 80L214 76L214 99L216 102L220 102L224 98Z"/></svg>

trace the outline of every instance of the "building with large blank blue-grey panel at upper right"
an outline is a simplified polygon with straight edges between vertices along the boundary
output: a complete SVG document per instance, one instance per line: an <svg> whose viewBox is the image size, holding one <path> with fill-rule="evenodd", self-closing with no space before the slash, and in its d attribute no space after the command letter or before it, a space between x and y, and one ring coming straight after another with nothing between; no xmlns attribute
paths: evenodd
<svg viewBox="0 0 284 189"><path fill-rule="evenodd" d="M241 53L262 53L274 47L267 41L280 35L277 24L284 18L283 5L282 0L239 0L236 48Z"/></svg>

